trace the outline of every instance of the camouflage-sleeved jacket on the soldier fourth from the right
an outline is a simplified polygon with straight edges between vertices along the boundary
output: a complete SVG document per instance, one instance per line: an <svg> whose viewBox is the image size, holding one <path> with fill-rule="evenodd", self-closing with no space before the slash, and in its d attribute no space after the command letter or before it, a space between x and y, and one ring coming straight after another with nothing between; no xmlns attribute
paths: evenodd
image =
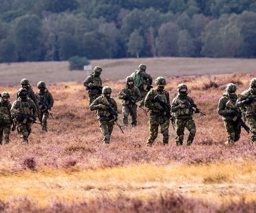
<svg viewBox="0 0 256 213"><path fill-rule="evenodd" d="M159 102L154 101L154 97L159 95L163 102L170 105L170 97L167 90L157 90L156 88L151 89L145 98L144 106L149 108L149 124L159 124L164 123L164 121L168 120L166 116L163 115L163 111L158 109L160 105Z"/></svg>

